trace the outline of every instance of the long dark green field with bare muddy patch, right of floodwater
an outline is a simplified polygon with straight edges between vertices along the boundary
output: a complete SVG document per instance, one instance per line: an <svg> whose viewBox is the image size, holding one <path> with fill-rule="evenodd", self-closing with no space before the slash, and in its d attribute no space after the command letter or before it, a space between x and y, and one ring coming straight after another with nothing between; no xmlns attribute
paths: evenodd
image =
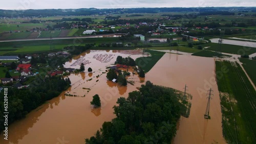
<svg viewBox="0 0 256 144"><path fill-rule="evenodd" d="M216 74L221 99L223 135L227 143L255 143L254 88L237 62L216 61Z"/></svg>

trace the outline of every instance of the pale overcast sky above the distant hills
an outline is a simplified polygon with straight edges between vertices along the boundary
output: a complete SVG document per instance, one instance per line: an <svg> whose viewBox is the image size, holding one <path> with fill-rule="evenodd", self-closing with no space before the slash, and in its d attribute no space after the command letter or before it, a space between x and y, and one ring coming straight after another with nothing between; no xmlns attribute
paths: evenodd
<svg viewBox="0 0 256 144"><path fill-rule="evenodd" d="M10 0L0 9L156 8L156 7L256 7L256 0Z"/></svg>

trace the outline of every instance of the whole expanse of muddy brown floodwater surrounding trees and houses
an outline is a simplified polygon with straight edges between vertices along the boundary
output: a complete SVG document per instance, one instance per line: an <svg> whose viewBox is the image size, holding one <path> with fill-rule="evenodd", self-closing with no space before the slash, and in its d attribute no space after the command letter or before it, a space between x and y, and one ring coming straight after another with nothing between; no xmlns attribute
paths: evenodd
<svg viewBox="0 0 256 144"><path fill-rule="evenodd" d="M173 87L183 91L185 84L193 95L189 118L182 117L178 123L177 136L173 143L225 143L222 137L221 109L219 92L216 83L210 87L215 96L211 101L211 119L205 120L206 90L204 85L212 79L215 81L213 58L165 54L145 75L144 79L133 75L130 68L128 81L135 84L119 86L107 81L106 67L112 66L117 56L137 58L141 50L132 51L87 51L65 64L65 67L79 68L84 63L93 73L71 74L72 86L44 105L30 112L26 118L9 127L9 140L0 136L0 143L68 143L82 144L84 138L90 138L100 129L105 121L115 117L112 107L120 97L127 98L129 92L150 80L154 84ZM72 66L71 66L72 65ZM124 70L124 69L122 69ZM96 78L99 76L99 78ZM203 92L198 92L198 89ZM65 96L76 95L77 97ZM92 97L99 94L101 108L93 109ZM85 96L85 97L84 97Z"/></svg>

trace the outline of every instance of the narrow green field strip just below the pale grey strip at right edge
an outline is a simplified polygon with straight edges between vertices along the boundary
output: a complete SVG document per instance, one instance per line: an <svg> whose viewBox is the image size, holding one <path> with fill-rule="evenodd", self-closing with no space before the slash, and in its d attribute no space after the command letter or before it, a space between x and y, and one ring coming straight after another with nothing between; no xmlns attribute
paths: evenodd
<svg viewBox="0 0 256 144"><path fill-rule="evenodd" d="M207 48L208 50L224 52L229 54L236 54L236 55L241 55L241 54L251 55L253 53L256 53L255 47L243 47L239 45L221 44L221 49L220 49L219 43L206 43L206 44L203 44L202 46L204 47L210 46L209 48Z"/></svg>

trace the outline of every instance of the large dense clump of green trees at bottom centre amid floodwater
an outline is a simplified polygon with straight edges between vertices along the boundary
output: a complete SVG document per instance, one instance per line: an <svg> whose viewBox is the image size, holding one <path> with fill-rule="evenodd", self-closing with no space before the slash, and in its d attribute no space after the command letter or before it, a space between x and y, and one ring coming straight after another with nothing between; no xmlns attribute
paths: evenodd
<svg viewBox="0 0 256 144"><path fill-rule="evenodd" d="M186 107L175 90L147 81L139 91L119 98L114 106L116 118L104 122L87 144L170 143L176 135L176 123Z"/></svg>

